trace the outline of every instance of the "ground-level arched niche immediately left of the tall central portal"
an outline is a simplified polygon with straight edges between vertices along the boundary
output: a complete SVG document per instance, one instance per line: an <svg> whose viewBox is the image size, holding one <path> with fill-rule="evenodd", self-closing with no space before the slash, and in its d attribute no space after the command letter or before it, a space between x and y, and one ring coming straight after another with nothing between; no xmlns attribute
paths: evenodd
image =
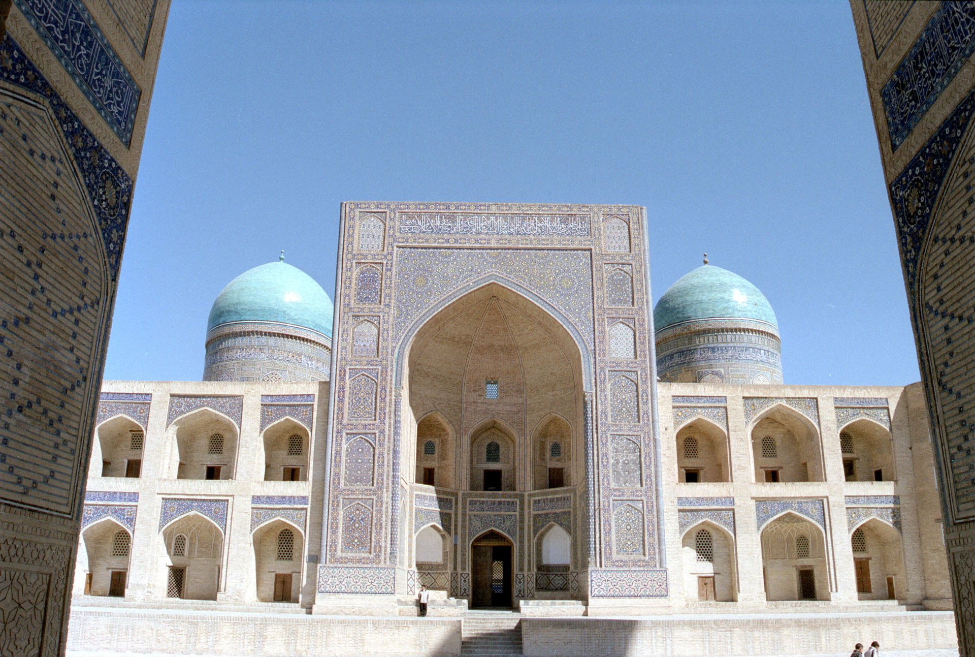
<svg viewBox="0 0 975 657"><path fill-rule="evenodd" d="M297 602L301 591L304 533L276 518L254 529L254 576L261 602Z"/></svg>

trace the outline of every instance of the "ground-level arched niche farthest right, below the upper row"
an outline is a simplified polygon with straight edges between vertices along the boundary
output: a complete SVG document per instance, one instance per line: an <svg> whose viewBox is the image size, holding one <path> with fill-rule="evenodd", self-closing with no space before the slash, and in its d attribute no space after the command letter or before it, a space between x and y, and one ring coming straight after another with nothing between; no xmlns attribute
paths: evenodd
<svg viewBox="0 0 975 657"><path fill-rule="evenodd" d="M870 518L850 532L857 597L886 600L907 590L901 533L878 518Z"/></svg>

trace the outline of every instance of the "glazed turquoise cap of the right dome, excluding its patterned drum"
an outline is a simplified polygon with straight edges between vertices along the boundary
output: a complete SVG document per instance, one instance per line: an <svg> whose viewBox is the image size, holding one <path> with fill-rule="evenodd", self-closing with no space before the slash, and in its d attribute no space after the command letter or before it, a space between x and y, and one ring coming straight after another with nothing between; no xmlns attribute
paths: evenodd
<svg viewBox="0 0 975 657"><path fill-rule="evenodd" d="M778 329L775 312L759 288L738 274L704 265L685 273L653 308L656 331L693 319L741 317Z"/></svg>

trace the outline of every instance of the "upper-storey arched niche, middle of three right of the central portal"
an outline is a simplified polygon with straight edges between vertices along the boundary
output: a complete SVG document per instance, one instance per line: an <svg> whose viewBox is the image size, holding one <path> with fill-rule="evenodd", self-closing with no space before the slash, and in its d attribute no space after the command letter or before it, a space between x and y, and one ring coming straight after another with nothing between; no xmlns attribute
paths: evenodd
<svg viewBox="0 0 975 657"><path fill-rule="evenodd" d="M819 431L804 415L778 404L752 429L755 480L824 481Z"/></svg>

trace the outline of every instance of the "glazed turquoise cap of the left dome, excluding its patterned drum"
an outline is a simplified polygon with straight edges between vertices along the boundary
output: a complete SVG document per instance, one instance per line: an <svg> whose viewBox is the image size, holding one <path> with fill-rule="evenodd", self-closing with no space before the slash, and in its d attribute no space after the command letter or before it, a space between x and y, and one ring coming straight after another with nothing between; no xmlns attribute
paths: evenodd
<svg viewBox="0 0 975 657"><path fill-rule="evenodd" d="M292 324L331 338L331 299L315 279L283 261L248 269L227 283L210 308L207 331L235 321Z"/></svg>

